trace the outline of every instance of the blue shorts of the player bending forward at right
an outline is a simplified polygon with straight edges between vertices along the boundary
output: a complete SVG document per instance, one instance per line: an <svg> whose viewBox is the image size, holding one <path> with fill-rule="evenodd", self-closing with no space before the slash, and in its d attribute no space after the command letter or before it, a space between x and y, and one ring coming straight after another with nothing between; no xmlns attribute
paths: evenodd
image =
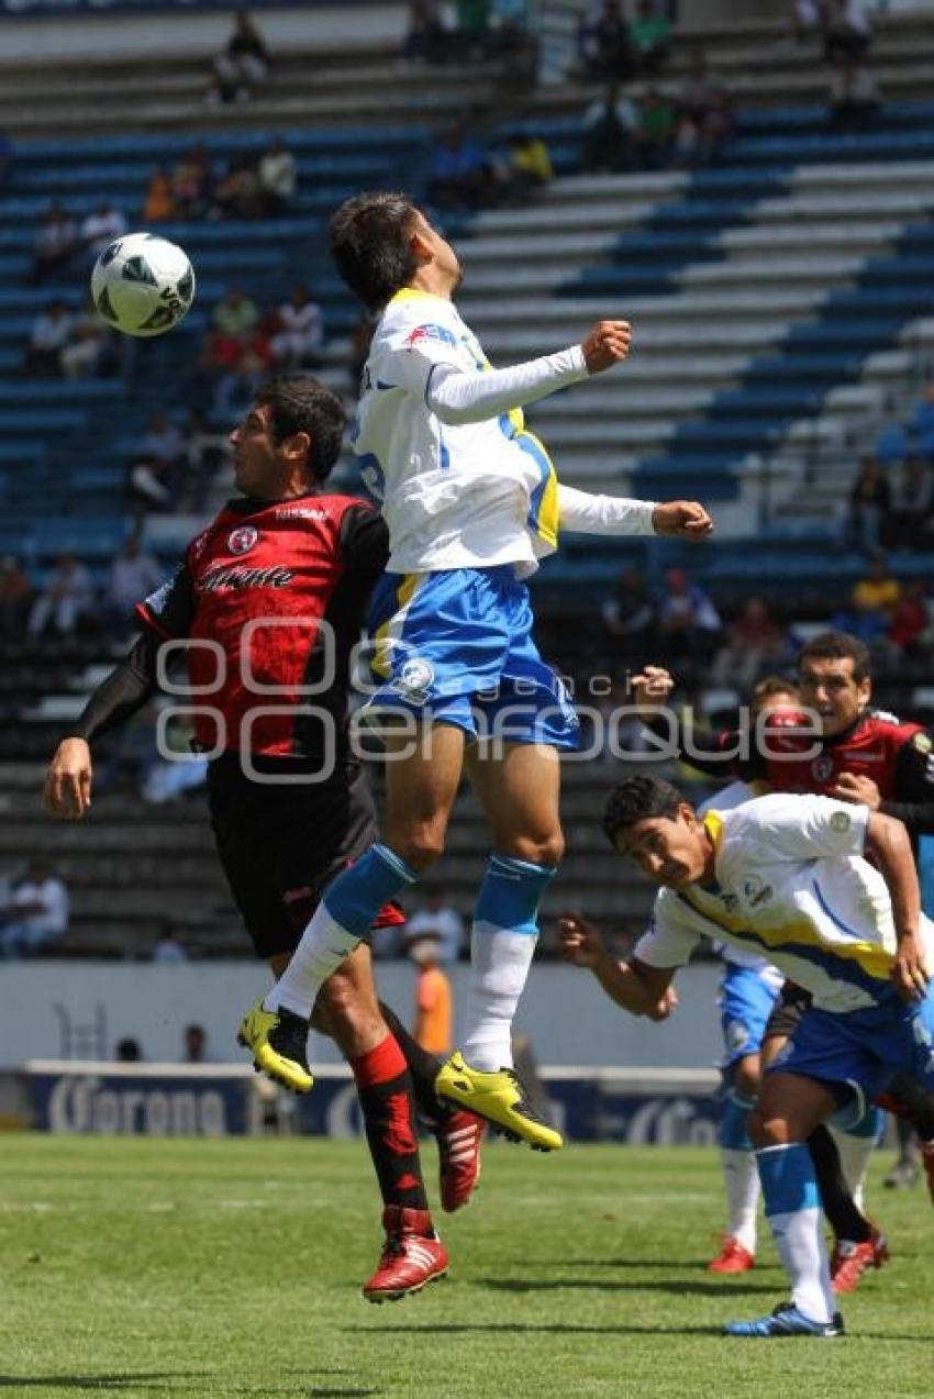
<svg viewBox="0 0 934 1399"><path fill-rule="evenodd" d="M934 990L912 1004L891 990L843 1016L812 1006L768 1072L817 1079L839 1101L850 1088L871 1102L899 1073L934 1091Z"/></svg>

